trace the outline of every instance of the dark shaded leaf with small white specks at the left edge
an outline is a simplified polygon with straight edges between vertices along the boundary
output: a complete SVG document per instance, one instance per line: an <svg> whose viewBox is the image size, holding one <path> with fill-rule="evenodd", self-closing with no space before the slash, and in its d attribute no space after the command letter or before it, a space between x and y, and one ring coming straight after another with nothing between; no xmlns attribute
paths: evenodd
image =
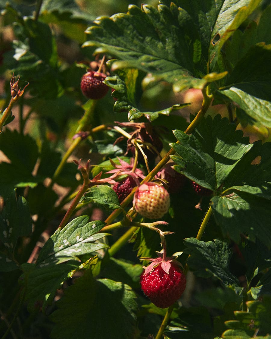
<svg viewBox="0 0 271 339"><path fill-rule="evenodd" d="M9 258L13 259L15 246L19 237L28 236L32 232L32 219L24 197L16 197L13 191L5 199L0 215L0 241L5 245Z"/></svg>

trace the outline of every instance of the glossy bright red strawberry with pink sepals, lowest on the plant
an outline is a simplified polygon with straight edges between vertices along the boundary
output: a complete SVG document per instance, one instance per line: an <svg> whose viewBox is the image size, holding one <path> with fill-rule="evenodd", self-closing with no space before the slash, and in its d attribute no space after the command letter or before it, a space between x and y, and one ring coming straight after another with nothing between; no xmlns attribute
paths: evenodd
<svg viewBox="0 0 271 339"><path fill-rule="evenodd" d="M144 267L145 271L140 276L141 289L150 301L157 307L166 308L174 304L183 294L186 278L179 261L175 257L142 258L151 260L152 263Z"/></svg>

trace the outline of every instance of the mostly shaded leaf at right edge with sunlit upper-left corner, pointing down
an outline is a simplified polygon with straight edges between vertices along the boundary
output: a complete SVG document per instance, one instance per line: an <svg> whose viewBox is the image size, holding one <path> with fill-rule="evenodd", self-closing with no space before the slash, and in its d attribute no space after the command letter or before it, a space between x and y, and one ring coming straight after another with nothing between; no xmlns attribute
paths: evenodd
<svg viewBox="0 0 271 339"><path fill-rule="evenodd" d="M245 233L251 240L257 237L266 246L271 246L270 200L238 192L216 196L211 201L215 221L225 236L238 243L240 233Z"/></svg>

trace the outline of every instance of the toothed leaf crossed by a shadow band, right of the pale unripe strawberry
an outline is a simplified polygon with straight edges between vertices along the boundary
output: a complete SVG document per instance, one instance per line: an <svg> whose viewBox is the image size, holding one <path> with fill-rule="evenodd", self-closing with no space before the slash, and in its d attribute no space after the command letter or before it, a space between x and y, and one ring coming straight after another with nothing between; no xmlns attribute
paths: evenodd
<svg viewBox="0 0 271 339"><path fill-rule="evenodd" d="M251 149L252 144L243 138L235 125L218 114L207 116L195 131L187 135L173 131L179 144L171 144L177 155L172 156L174 168L199 185L216 191L237 165L238 161Z"/></svg>

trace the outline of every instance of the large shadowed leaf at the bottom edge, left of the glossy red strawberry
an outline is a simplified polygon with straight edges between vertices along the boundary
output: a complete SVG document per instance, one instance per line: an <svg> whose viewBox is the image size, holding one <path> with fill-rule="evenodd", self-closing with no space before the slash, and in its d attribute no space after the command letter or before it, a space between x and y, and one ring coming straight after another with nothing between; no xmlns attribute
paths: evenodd
<svg viewBox="0 0 271 339"><path fill-rule="evenodd" d="M94 280L87 270L57 302L58 310L50 316L56 323L51 337L86 339L91 334L92 338L136 338L135 298L128 285Z"/></svg>

